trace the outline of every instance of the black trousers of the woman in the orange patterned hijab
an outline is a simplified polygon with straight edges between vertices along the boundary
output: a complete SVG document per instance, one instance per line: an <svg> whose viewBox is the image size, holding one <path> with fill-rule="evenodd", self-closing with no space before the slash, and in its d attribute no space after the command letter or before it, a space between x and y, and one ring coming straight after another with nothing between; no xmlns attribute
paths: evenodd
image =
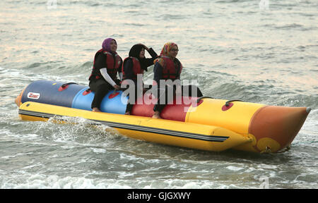
<svg viewBox="0 0 318 203"><path fill-rule="evenodd" d="M196 92L192 92L192 88L193 90L196 89ZM163 92L164 91L164 92ZM165 85L165 90L159 90L157 89L157 97L159 97L158 101L157 101L157 104L155 104L155 106L153 107L153 111L159 111L161 112L163 110L163 108L165 108L165 105L167 105L169 102L169 99L171 98L168 98L167 95L169 92L173 92L173 95L175 97L175 86L174 87L171 87L171 86L168 86L168 85ZM161 97L160 97L161 95ZM163 102L163 95L165 96L165 102ZM203 97L203 94L201 92L201 90L199 89L199 87L196 87L195 85L182 85L182 96L187 96L187 97Z"/></svg>

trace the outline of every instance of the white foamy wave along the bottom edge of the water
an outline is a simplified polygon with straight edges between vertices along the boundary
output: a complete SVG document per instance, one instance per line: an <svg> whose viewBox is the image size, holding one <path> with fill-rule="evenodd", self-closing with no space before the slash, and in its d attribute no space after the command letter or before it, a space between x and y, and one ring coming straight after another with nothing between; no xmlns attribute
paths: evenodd
<svg viewBox="0 0 318 203"><path fill-rule="evenodd" d="M45 175L42 173L23 175L1 176L0 188L6 189L158 189L158 188L171 188L171 189L187 189L187 188L229 188L226 183L213 183L207 180L124 180L117 178L84 178L73 176L57 176ZM232 186L235 187L235 185Z"/></svg>

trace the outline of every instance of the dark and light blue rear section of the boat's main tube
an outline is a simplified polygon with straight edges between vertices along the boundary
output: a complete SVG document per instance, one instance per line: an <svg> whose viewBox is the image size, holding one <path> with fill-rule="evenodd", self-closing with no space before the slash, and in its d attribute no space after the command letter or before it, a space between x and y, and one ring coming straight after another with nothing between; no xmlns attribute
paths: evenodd
<svg viewBox="0 0 318 203"><path fill-rule="evenodd" d="M63 83L49 80L37 80L25 88L21 102L35 101L42 104L52 104L75 109L92 111L90 105L95 93L86 91L89 87L72 82ZM114 90L102 99L100 111L107 113L124 114L128 97L122 91Z"/></svg>

